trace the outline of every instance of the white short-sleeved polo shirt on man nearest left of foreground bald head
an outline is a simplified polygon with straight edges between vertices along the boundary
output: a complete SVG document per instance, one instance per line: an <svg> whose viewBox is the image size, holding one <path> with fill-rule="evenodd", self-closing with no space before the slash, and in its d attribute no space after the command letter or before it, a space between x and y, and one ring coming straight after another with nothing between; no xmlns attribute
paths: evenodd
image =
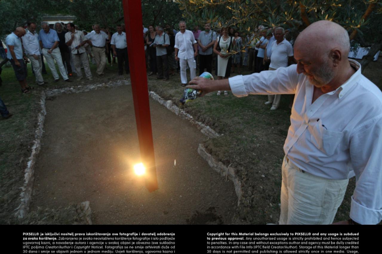
<svg viewBox="0 0 382 254"><path fill-rule="evenodd" d="M288 57L293 56L293 47L287 40L277 44L277 40L272 43L272 55L270 56L270 68L280 68L288 66Z"/></svg>

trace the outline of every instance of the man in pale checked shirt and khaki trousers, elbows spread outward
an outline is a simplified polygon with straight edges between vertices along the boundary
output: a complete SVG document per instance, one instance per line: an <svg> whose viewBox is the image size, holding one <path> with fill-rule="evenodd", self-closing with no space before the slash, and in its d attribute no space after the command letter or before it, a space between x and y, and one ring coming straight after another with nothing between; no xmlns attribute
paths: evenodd
<svg viewBox="0 0 382 254"><path fill-rule="evenodd" d="M94 33L91 32L85 35L86 39L88 39L93 45L93 55L95 59L95 63L97 64L97 76L104 76L104 69L106 66L106 54L105 54L105 45L106 40L110 40L110 32L108 29L101 31L99 24L94 25Z"/></svg>

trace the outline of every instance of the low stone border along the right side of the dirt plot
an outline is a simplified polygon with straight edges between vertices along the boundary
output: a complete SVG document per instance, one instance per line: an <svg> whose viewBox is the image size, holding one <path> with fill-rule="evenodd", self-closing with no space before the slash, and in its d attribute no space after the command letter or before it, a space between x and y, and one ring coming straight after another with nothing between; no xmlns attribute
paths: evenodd
<svg viewBox="0 0 382 254"><path fill-rule="evenodd" d="M177 116L181 116L184 119L189 120L192 124L194 124L197 129L201 131L204 135L206 135L209 138L216 138L221 135L219 135L215 130L213 130L208 125L203 124L202 122L198 122L194 119L193 116L186 113L183 109L178 108L178 106L175 105L171 100L164 100L162 97L157 95L155 92L149 92L149 95L151 98L153 98L155 101L159 102L163 106L165 106L167 109L175 113ZM227 177L233 182L233 185L235 186L235 192L236 196L238 197L238 206L240 205L241 198L243 196L243 192L241 191L241 182L235 175L235 169L233 167L226 167L222 162L217 161L211 154L209 154L206 151L206 148L202 144L199 144L199 147L197 148L197 152L199 155L205 159L209 166L212 167L216 172L220 173L220 175Z"/></svg>

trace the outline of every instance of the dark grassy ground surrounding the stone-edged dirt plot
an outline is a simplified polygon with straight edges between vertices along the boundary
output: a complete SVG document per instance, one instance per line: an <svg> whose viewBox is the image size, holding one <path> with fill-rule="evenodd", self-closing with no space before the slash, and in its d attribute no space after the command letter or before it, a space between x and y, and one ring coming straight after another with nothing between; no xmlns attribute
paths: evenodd
<svg viewBox="0 0 382 254"><path fill-rule="evenodd" d="M364 75L380 88L381 63L371 63ZM28 84L34 85L31 65L28 64ZM91 64L95 74L95 65ZM243 74L249 74L243 68ZM49 84L46 88L86 85L87 82L53 83L53 77L47 68L44 74ZM75 74L74 74L75 75ZM235 75L235 74L233 74ZM8 120L0 120L0 223L12 223L14 210L19 204L20 187L23 186L24 169L30 156L30 147L34 140L37 113L40 110L39 98L44 87L36 87L32 93L22 94L15 79L13 69L4 67L1 75L3 85L0 97L14 114ZM122 76L126 78L126 76ZM189 76L188 76L189 77ZM121 79L117 75L117 66L107 64L105 78L94 77L94 83ZM72 80L75 80L73 78ZM156 80L148 77L149 90L156 92L166 100L178 103L184 88L180 86L180 75L171 76L170 80ZM290 97L283 95L280 107L270 111L264 105L267 96L247 96L236 98L229 92L217 96L211 93L204 98L181 106L194 118L209 125L219 134L218 138L206 138L207 151L222 161L226 166L235 168L243 185L243 199L237 207L235 222L264 224L278 220L280 212L281 164L284 156L283 143L290 125ZM354 179L350 181L348 191L335 220L348 218L350 196L354 190Z"/></svg>

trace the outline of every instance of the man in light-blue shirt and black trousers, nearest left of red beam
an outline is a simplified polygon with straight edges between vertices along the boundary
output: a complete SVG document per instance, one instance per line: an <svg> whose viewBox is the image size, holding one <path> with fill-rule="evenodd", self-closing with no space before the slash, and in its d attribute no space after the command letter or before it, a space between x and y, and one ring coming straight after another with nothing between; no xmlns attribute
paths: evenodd
<svg viewBox="0 0 382 254"><path fill-rule="evenodd" d="M123 74L123 62L125 62L126 74L129 74L129 56L127 52L126 33L122 31L122 26L117 26L117 32L113 34L110 42L113 48L113 53L117 56L118 75Z"/></svg>

